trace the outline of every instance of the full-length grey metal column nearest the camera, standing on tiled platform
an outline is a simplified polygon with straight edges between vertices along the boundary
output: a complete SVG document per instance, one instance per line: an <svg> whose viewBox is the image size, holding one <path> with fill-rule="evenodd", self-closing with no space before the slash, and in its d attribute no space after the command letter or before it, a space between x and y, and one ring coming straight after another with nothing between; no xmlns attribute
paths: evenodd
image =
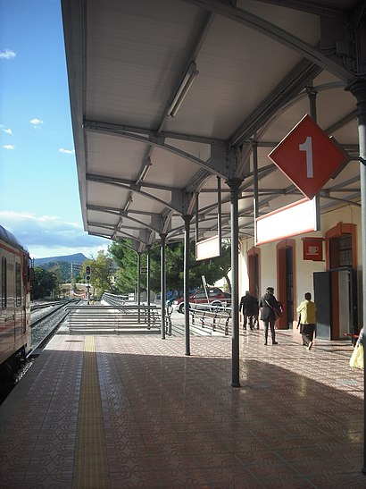
<svg viewBox="0 0 366 489"><path fill-rule="evenodd" d="M239 242L238 224L238 190L242 183L240 179L231 179L226 182L230 189L230 214L231 214L231 375L232 387L240 387L239 380L239 257L237 245Z"/></svg>

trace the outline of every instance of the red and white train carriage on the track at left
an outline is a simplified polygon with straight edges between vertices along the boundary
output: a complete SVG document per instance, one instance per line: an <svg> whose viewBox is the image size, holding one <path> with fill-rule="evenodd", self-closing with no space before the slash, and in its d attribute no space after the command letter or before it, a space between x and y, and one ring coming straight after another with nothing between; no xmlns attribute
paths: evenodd
<svg viewBox="0 0 366 489"><path fill-rule="evenodd" d="M29 251L0 225L0 384L30 349Z"/></svg>

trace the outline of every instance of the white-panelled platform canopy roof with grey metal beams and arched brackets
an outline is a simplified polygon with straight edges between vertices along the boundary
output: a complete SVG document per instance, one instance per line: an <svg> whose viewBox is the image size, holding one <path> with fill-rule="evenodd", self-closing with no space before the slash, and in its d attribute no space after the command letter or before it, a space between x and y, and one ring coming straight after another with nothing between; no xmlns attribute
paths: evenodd
<svg viewBox="0 0 366 489"><path fill-rule="evenodd" d="M320 190L321 213L360 206L356 99L365 67L356 0L62 0L84 227L137 251L230 232L227 181L239 181L239 236L304 195L268 154L305 114L349 159ZM183 92L182 92L183 90ZM312 95L313 94L313 95ZM311 109L312 106L312 109ZM258 173L254 172L254 149ZM257 175L257 178L255 178Z"/></svg>

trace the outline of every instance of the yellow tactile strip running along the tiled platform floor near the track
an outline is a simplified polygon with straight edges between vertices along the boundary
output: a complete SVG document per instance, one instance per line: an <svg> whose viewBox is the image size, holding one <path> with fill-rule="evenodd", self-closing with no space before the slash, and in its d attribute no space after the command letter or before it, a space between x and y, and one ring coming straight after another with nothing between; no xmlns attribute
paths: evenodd
<svg viewBox="0 0 366 489"><path fill-rule="evenodd" d="M72 488L104 489L104 487L109 488L110 481L96 345L94 336L85 336Z"/></svg>

